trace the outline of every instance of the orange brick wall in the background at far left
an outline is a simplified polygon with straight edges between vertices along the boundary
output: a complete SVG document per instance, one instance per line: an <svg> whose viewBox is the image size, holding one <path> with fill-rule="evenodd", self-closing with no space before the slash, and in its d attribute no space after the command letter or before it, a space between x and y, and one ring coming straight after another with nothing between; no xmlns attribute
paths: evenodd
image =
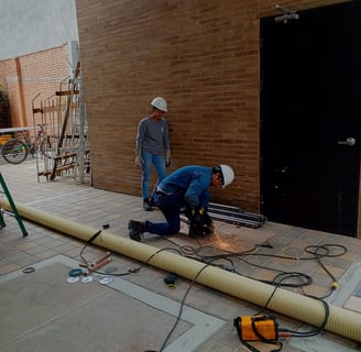
<svg viewBox="0 0 361 352"><path fill-rule="evenodd" d="M66 44L0 61L0 86L8 92L11 106L11 121L8 127L33 125L33 99L39 95L34 100L35 108L41 103L51 103L55 91L59 90L61 81L70 72ZM35 117L36 124L41 122L37 121L41 116Z"/></svg>

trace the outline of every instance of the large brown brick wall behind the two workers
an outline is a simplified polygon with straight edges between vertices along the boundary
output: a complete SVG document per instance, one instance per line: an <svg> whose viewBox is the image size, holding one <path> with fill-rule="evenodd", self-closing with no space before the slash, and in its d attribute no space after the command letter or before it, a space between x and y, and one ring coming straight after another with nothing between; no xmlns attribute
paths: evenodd
<svg viewBox="0 0 361 352"><path fill-rule="evenodd" d="M287 1L300 10L340 1ZM261 16L271 0L76 1L94 186L140 195L136 127L168 101L174 170L229 164L236 180L212 200L260 209Z"/></svg>

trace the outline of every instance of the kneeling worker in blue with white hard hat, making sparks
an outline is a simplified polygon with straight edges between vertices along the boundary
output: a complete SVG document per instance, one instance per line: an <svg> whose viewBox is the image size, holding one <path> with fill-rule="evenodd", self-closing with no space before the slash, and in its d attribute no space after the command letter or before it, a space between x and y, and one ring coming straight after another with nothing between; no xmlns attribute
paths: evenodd
<svg viewBox="0 0 361 352"><path fill-rule="evenodd" d="M154 195L156 207L163 212L166 222L135 221L128 223L129 237L141 242L142 234L150 232L158 235L178 233L180 230L180 210L186 208L190 223L211 222L207 215L209 204L209 186L230 185L234 172L228 165L215 167L184 166L165 177L157 186Z"/></svg>

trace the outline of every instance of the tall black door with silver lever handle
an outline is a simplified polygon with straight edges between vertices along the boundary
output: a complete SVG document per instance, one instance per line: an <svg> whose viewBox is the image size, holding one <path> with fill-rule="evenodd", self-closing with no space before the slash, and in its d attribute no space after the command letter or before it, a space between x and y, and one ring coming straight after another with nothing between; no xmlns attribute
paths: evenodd
<svg viewBox="0 0 361 352"><path fill-rule="evenodd" d="M271 221L357 234L361 3L261 20L261 194Z"/></svg>

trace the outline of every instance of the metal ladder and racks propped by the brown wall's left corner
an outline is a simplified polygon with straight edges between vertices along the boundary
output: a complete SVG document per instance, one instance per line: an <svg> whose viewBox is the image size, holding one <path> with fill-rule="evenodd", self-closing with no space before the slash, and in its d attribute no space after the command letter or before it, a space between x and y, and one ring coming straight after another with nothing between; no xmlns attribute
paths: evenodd
<svg viewBox="0 0 361 352"><path fill-rule="evenodd" d="M37 180L39 176L54 180L56 176L70 175L83 184L85 174L90 174L90 150L79 62L73 76L62 80L59 90L41 102L40 109L33 106L34 125L39 123L40 117L35 117L39 112L48 141L46 155L51 157L40 153L44 170L37 167Z"/></svg>

